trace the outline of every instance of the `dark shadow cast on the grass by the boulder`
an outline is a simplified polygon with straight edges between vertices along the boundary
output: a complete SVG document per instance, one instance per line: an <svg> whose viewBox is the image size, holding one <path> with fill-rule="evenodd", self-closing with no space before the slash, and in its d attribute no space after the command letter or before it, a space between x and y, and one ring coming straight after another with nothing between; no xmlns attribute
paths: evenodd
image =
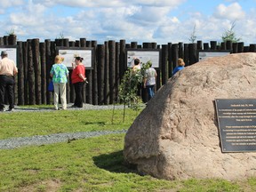
<svg viewBox="0 0 256 192"><path fill-rule="evenodd" d="M108 172L133 172L139 174L136 165L124 162L123 150L108 155L93 156L92 158L96 166Z"/></svg>

